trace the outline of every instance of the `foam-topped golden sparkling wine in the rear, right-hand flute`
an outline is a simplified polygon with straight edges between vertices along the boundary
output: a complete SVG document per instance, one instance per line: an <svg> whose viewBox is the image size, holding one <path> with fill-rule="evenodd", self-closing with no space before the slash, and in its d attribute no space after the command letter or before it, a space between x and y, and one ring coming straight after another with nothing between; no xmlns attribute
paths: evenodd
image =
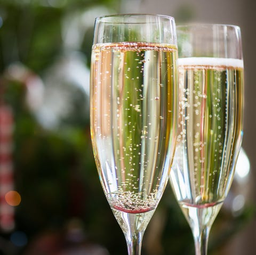
<svg viewBox="0 0 256 255"><path fill-rule="evenodd" d="M213 222L233 180L242 142L243 61L179 59L179 89L171 185L187 218L203 213Z"/></svg>

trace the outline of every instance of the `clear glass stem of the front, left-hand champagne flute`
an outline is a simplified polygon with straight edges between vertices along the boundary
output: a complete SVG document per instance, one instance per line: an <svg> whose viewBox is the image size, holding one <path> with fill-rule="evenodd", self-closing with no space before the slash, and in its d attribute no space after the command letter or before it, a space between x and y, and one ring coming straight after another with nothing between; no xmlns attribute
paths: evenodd
<svg viewBox="0 0 256 255"><path fill-rule="evenodd" d="M127 232L125 235L129 255L140 255L143 232Z"/></svg>

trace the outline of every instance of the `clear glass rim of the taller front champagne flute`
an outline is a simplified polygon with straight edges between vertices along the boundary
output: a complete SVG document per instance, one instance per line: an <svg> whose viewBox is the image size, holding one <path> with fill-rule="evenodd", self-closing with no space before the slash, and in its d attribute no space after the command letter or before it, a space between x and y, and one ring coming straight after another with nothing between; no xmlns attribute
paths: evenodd
<svg viewBox="0 0 256 255"><path fill-rule="evenodd" d="M108 15L102 15L100 17L97 17L95 18L95 22L104 22L104 23L124 23L124 24L131 24L131 23L134 23L134 24L145 24L145 23L148 23L148 22L117 22L117 21L107 21L107 20L103 20L103 19L107 19L107 18L115 18L115 17L158 17L158 18L163 18L163 19L166 19L166 20L171 20L171 21L174 21L175 19L171 16L168 16L168 15L162 15L162 14L150 14L150 13L119 13L119 14L108 14ZM152 22L153 23L153 22Z"/></svg>

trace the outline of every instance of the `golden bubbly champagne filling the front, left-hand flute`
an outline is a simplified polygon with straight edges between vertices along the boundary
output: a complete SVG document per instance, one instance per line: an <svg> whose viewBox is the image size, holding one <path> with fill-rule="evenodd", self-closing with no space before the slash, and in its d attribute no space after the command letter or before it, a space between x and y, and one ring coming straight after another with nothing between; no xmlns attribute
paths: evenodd
<svg viewBox="0 0 256 255"><path fill-rule="evenodd" d="M91 134L112 208L146 212L163 194L177 133L176 60L171 45L93 47Z"/></svg>

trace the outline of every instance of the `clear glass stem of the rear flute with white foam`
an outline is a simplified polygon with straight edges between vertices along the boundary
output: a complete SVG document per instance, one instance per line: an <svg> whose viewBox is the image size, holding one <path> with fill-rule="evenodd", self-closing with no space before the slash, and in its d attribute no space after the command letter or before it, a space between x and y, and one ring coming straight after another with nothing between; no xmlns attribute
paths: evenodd
<svg viewBox="0 0 256 255"><path fill-rule="evenodd" d="M207 255L210 227L193 229L196 255Z"/></svg>

